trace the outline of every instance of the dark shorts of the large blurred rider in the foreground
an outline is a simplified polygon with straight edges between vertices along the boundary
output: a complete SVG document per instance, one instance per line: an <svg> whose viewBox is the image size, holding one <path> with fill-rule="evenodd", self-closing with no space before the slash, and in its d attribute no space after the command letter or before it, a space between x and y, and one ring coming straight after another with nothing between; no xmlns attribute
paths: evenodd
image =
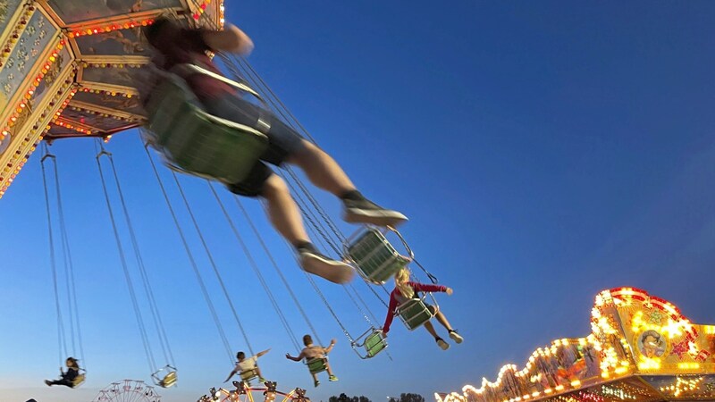
<svg viewBox="0 0 715 402"><path fill-rule="evenodd" d="M239 183L232 183L228 186L232 193L244 197L260 196L265 180L268 180L273 174L273 170L266 163L280 166L291 155L304 147L303 138L296 130L291 129L272 112L253 105L239 96L207 99L203 104L207 113L252 127L265 133L268 137L268 148L260 156L261 160L248 173L248 177ZM265 124L268 124L270 128L266 130Z"/></svg>

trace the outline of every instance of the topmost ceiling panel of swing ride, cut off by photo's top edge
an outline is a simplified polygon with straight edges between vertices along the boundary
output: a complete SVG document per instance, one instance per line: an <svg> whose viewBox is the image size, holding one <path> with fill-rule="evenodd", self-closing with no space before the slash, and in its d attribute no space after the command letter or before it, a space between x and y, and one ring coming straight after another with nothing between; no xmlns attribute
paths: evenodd
<svg viewBox="0 0 715 402"><path fill-rule="evenodd" d="M180 0L48 0L47 4L66 24L181 7Z"/></svg>

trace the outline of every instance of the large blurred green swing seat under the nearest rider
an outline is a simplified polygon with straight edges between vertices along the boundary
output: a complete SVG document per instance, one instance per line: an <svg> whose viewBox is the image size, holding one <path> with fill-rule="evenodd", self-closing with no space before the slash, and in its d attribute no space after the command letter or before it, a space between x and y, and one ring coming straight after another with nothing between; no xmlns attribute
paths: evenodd
<svg viewBox="0 0 715 402"><path fill-rule="evenodd" d="M146 105L147 143L175 170L224 183L245 179L268 145L265 134L206 113L178 75L159 77Z"/></svg>

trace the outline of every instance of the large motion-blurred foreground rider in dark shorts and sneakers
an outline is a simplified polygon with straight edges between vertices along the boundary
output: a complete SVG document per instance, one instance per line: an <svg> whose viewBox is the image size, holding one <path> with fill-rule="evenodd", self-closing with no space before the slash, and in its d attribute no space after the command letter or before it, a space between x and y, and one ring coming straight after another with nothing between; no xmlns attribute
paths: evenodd
<svg viewBox="0 0 715 402"><path fill-rule="evenodd" d="M230 24L219 31L182 29L175 22L160 18L147 26L144 34L149 44L163 56L158 67L165 71L180 64L194 63L221 74L207 52L248 54L253 49L251 39ZM400 212L385 209L363 197L330 155L302 138L272 112L242 98L227 83L201 73L192 73L182 78L198 96L207 113L253 127L268 137L269 147L260 155L260 162L254 166L248 178L228 188L240 196L265 198L273 227L296 247L300 265L305 271L335 283L348 282L354 275L349 264L332 260L315 249L288 186L268 163L276 166L290 163L302 169L315 186L341 199L346 222L395 226L407 221L407 217Z"/></svg>

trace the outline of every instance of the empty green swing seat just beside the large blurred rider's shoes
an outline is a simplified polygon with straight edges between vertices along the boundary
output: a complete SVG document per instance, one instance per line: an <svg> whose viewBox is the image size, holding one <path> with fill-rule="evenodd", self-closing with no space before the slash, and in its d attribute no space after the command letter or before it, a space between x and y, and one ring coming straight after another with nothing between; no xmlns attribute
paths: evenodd
<svg viewBox="0 0 715 402"><path fill-rule="evenodd" d="M397 230L393 231L400 236ZM401 236L400 239L408 249L409 256L400 255L383 232L374 227L358 230L352 239L355 240L350 241L345 247L346 255L357 266L357 272L367 282L383 285L412 261L412 251Z"/></svg>

